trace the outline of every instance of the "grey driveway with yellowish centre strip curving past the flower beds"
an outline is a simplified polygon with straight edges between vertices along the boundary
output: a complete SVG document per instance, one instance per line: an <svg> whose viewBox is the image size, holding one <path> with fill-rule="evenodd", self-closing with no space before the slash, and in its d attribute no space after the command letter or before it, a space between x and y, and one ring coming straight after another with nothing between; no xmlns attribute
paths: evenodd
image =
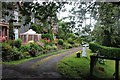
<svg viewBox="0 0 120 80"><path fill-rule="evenodd" d="M69 51L27 61L20 65L3 65L3 78L62 78L56 65L63 57L81 50L80 47Z"/></svg>

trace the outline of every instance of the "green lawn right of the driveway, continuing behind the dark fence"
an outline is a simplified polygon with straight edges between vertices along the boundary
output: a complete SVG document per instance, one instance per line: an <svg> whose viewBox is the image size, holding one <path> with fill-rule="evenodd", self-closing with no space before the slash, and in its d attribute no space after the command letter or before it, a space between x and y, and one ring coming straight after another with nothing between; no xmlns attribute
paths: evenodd
<svg viewBox="0 0 120 80"><path fill-rule="evenodd" d="M77 58L76 53L73 53L63 58L57 64L57 68L64 76L68 78L86 79L89 77L90 55L91 51L89 49L87 49L87 58ZM93 75L95 78L113 78L113 73L115 72L114 67L113 60L106 60L105 64L100 64L97 62ZM102 68L103 71L100 68Z"/></svg>

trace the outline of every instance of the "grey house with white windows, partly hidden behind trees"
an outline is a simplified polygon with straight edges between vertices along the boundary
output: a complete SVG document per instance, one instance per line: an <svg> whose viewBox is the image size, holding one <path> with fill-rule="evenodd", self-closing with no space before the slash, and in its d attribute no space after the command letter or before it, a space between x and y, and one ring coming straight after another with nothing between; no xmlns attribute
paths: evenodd
<svg viewBox="0 0 120 80"><path fill-rule="evenodd" d="M15 22L13 22L13 26L14 26L14 34L15 34L15 40L20 38L20 34L21 33L25 33L26 31L28 31L30 29L30 23L28 25L23 25L26 19L26 16L23 16L20 14L19 8L21 7L20 2L18 3L14 3L14 9L9 9L9 8L5 8L3 12L7 11L9 14L5 15L2 14L2 22L8 22L10 20L10 15L13 15L14 18L13 20ZM21 18L20 18L21 17ZM37 23L37 19L35 18L35 14L34 12L31 13L31 22L35 23L35 24L42 24L42 23ZM2 25L2 24L1 24ZM6 30L6 29L5 29ZM7 30L9 30L8 26L7 26ZM3 31L1 29L1 32L3 32L3 34L7 34L9 35L9 33ZM52 32L53 34L57 34L57 26L53 25L52 27ZM7 39L9 39L9 37L7 37ZM55 39L55 36L54 36Z"/></svg>

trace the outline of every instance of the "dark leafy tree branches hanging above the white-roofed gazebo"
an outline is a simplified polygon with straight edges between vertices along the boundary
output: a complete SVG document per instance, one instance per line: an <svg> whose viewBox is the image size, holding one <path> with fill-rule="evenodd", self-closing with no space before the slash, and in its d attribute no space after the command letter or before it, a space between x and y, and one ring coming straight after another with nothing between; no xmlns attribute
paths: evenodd
<svg viewBox="0 0 120 80"><path fill-rule="evenodd" d="M24 25L31 22L31 15L36 19L33 23L40 23L39 25L32 25L31 28L36 32L51 32L53 25L56 25L58 18L57 12L61 10L66 2L42 2L41 4L36 2L22 2L18 3L19 10L23 16L25 16ZM33 27L35 26L35 27Z"/></svg>

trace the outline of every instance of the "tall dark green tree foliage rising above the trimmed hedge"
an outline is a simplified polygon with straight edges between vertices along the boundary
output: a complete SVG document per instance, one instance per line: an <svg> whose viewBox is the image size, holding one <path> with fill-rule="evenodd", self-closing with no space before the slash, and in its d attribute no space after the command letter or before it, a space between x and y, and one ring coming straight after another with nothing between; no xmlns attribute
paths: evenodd
<svg viewBox="0 0 120 80"><path fill-rule="evenodd" d="M96 7L97 6L97 7ZM120 5L115 3L96 3L93 13L97 13L97 23L93 30L96 42L108 47L119 47L119 12Z"/></svg>

